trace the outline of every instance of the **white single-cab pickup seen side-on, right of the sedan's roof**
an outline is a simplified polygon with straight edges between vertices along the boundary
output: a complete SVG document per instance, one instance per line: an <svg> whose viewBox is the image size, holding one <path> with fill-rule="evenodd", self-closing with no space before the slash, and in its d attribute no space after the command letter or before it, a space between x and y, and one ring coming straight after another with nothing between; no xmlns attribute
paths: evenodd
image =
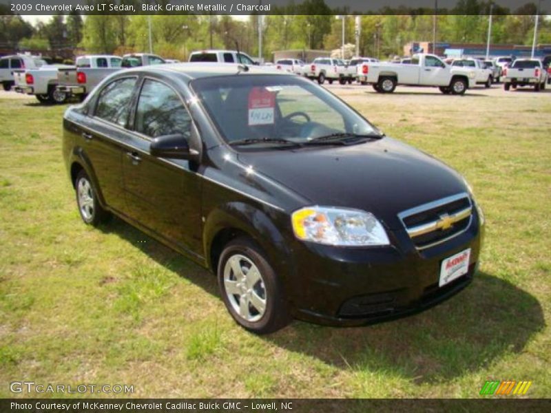
<svg viewBox="0 0 551 413"><path fill-rule="evenodd" d="M476 83L475 73L463 67L446 65L434 54L414 54L411 64L362 63L358 80L370 83L380 93L392 93L396 85L434 86L444 94L464 94Z"/></svg>

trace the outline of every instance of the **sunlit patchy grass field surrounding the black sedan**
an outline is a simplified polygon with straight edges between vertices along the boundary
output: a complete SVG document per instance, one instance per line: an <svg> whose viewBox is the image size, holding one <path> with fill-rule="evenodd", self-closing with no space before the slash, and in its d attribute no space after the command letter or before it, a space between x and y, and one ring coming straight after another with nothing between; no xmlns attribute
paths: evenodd
<svg viewBox="0 0 551 413"><path fill-rule="evenodd" d="M120 220L85 226L61 160L64 107L2 94L0 396L26 380L143 397L477 397L512 379L549 397L551 93L333 89L472 184L487 229L471 286L385 324L251 335L207 271Z"/></svg>

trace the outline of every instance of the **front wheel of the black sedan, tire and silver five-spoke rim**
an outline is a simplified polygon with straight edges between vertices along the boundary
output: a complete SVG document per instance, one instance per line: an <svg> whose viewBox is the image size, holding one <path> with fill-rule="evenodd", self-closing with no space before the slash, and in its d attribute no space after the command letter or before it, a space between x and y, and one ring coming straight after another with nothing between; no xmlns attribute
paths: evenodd
<svg viewBox="0 0 551 413"><path fill-rule="evenodd" d="M231 317L246 330L267 334L289 324L280 280L249 238L239 237L222 251L218 286Z"/></svg>

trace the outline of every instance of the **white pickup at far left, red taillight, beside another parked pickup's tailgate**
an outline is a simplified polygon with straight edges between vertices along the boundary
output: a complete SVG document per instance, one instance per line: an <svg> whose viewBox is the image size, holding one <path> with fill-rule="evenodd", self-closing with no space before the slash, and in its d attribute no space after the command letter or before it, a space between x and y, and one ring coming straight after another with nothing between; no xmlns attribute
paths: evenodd
<svg viewBox="0 0 551 413"><path fill-rule="evenodd" d="M14 91L37 97L40 103L64 103L67 94L56 89L57 71L67 65L43 65L39 69L14 70Z"/></svg>

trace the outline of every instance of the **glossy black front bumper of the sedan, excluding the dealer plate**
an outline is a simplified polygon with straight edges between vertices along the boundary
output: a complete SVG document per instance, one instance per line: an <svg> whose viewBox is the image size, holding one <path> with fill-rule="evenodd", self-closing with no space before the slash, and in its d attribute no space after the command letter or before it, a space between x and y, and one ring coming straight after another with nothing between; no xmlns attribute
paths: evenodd
<svg viewBox="0 0 551 413"><path fill-rule="evenodd" d="M296 242L289 294L293 315L331 326L360 326L430 308L467 286L477 271L484 226L417 250L406 231L388 234L393 246L335 248ZM442 260L471 248L468 273L439 287Z"/></svg>

